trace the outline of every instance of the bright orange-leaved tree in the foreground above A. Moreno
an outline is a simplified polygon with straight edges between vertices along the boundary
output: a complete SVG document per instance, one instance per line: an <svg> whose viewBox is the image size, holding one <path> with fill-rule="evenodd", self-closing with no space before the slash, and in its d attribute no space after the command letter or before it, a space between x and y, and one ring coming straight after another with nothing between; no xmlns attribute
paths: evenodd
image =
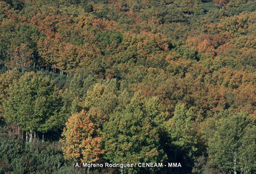
<svg viewBox="0 0 256 174"><path fill-rule="evenodd" d="M101 137L85 110L70 116L63 131L64 157L77 163L95 163L104 153Z"/></svg>

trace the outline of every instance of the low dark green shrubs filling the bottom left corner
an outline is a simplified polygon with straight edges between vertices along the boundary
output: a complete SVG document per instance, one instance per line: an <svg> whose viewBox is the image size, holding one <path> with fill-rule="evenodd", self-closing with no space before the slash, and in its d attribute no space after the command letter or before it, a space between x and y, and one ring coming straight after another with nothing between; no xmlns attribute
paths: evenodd
<svg viewBox="0 0 256 174"><path fill-rule="evenodd" d="M0 173L61 174L74 172L73 165L63 158L60 143L35 141L24 143L1 128Z"/></svg>

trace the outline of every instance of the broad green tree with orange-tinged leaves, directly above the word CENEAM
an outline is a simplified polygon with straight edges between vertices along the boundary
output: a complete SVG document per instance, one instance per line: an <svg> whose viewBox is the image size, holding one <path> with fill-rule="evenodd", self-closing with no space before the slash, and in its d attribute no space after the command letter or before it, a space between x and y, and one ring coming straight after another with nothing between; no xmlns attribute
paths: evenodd
<svg viewBox="0 0 256 174"><path fill-rule="evenodd" d="M121 112L113 113L103 129L105 158L111 163L160 163L167 160L161 148L160 134L167 114L156 97L145 99L136 92L131 103ZM123 172L156 171L156 168L129 168ZM158 169L159 170L159 169Z"/></svg>

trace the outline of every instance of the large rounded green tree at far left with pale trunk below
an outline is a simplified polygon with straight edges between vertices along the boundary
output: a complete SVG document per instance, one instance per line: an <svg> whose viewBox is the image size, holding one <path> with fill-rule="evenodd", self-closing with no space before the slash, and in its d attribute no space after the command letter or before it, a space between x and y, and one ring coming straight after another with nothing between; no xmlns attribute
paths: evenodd
<svg viewBox="0 0 256 174"><path fill-rule="evenodd" d="M59 118L61 96L54 83L41 72L26 72L10 88L4 102L4 115L9 123L25 131L46 133L60 128L64 123Z"/></svg>

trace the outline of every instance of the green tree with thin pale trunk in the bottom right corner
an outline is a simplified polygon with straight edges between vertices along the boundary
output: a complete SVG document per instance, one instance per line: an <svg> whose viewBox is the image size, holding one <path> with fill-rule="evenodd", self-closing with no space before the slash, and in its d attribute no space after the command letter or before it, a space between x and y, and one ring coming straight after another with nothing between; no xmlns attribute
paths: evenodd
<svg viewBox="0 0 256 174"><path fill-rule="evenodd" d="M224 172L255 173L255 127L246 114L222 114L209 136L208 163Z"/></svg>

